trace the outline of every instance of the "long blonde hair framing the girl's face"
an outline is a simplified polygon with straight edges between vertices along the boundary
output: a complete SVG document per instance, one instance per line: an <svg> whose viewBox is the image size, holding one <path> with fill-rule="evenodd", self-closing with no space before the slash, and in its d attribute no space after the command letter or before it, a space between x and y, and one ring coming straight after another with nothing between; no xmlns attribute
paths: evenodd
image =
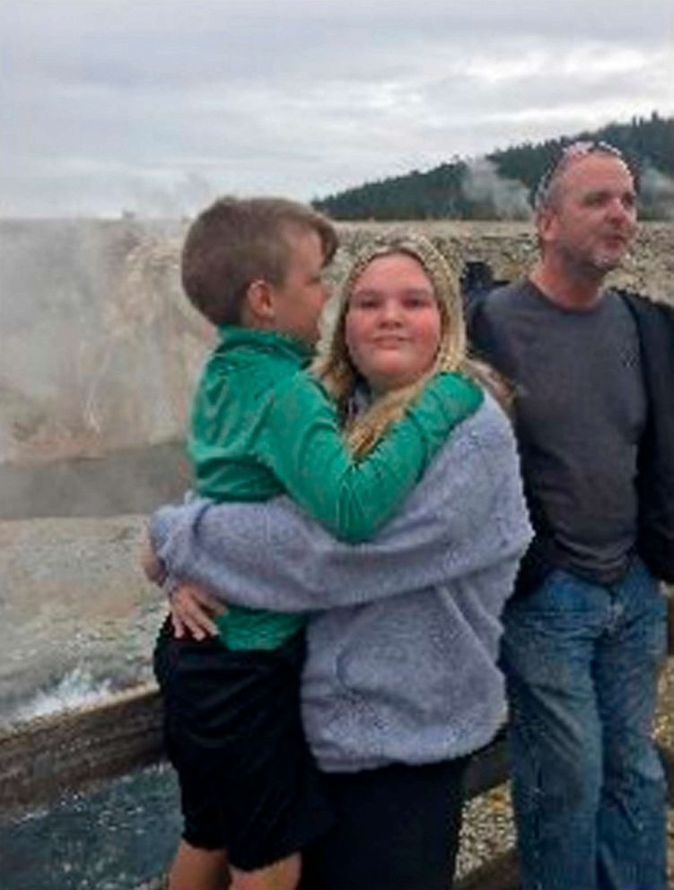
<svg viewBox="0 0 674 890"><path fill-rule="evenodd" d="M402 254L422 266L433 285L441 318L440 345L432 367L406 387L390 390L372 401L360 414L350 410L355 385L361 375L346 348L345 321L355 284L373 260ZM391 232L370 242L355 257L323 319L316 358L311 370L335 398L345 423L346 439L357 457L367 454L391 423L419 396L429 378L438 371L457 371L495 388L494 373L468 357L466 327L459 275L431 241L415 232Z"/></svg>

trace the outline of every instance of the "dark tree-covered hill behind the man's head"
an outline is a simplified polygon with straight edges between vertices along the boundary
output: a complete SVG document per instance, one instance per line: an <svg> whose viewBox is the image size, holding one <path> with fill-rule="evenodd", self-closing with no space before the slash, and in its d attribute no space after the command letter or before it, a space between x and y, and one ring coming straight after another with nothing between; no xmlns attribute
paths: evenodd
<svg viewBox="0 0 674 890"><path fill-rule="evenodd" d="M453 160L313 201L337 220L527 219L530 194L560 147L579 139L615 145L639 170L641 217L674 219L674 118L633 118L599 130L525 143L486 158Z"/></svg>

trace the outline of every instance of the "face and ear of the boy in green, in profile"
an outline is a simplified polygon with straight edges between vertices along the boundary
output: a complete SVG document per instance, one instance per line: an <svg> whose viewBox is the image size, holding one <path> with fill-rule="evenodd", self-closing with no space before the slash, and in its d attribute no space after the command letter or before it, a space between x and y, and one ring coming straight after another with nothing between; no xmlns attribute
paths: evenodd
<svg viewBox="0 0 674 890"><path fill-rule="evenodd" d="M290 260L284 284L272 287L275 330L308 345L319 336L319 317L328 299L323 281L323 248L315 231L293 228L286 238Z"/></svg>

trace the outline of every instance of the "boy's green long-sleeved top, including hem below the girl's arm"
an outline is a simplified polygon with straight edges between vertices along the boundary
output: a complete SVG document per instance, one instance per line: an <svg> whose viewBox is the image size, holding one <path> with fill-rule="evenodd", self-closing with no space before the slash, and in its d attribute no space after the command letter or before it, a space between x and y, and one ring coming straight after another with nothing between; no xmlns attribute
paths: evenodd
<svg viewBox="0 0 674 890"><path fill-rule="evenodd" d="M310 353L290 337L221 328L194 401L189 455L195 489L214 501L266 501L287 493L335 537L374 535L415 487L451 429L482 391L439 374L375 449L355 460L337 407L304 371ZM276 649L301 615L231 607L219 620L230 649Z"/></svg>

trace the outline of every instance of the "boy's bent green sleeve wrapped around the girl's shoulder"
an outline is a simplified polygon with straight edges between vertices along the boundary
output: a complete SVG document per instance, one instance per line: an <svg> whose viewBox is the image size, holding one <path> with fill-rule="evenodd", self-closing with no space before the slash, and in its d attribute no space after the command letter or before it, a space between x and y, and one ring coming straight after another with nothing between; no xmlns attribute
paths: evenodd
<svg viewBox="0 0 674 890"><path fill-rule="evenodd" d="M335 537L355 544L391 518L451 430L482 399L470 380L437 374L377 446L356 460L334 402L317 380L300 373L271 397L256 450L294 502Z"/></svg>

